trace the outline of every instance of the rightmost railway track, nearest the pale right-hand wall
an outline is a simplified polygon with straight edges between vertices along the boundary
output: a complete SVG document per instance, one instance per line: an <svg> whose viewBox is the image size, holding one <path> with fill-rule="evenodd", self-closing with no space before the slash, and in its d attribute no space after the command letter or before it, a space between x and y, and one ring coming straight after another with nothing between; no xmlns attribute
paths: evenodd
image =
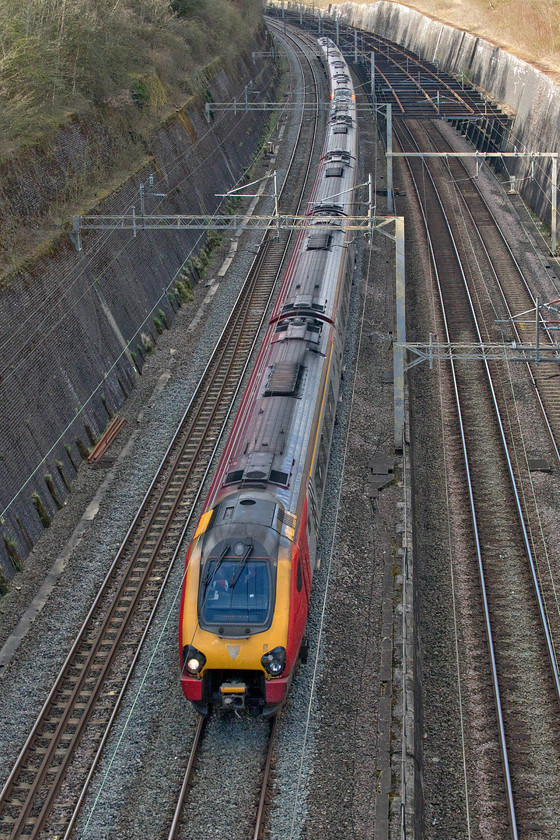
<svg viewBox="0 0 560 840"><path fill-rule="evenodd" d="M450 149L436 125L426 125L425 136L438 151ZM455 191L455 205L457 206L457 201L461 203L457 210L463 229L459 229L456 222L450 222L454 229L454 236L456 239L461 236L464 238L466 226L472 227L471 238L464 244L467 260L471 262L472 297L473 303L476 301L481 340L487 343L495 341L496 332L499 329L504 342L515 341L519 344L525 342L535 345L536 325L534 312L531 313L531 309L535 309L536 297L530 283L503 235L494 213L478 188L476 180L472 177L474 173L460 160L453 158L446 160L445 166L451 178L448 184L452 184ZM531 313L522 325L518 325L515 320L515 316L520 312ZM552 334L544 323L540 330L540 344L542 347L555 347ZM538 373L536 373L536 367L529 363L520 368L513 374L515 377L513 390L517 388L521 392L525 383L530 383L544 429L550 437L556 463L560 466L558 450L560 391L556 378L557 364L543 361L539 365ZM500 413L504 417L513 417L516 407L512 400L512 387L509 385L509 380L504 387L504 378L501 376L499 365L493 363L490 369L496 384ZM518 423L507 423L504 426L508 449L511 453L515 453L512 457L515 482L520 494L526 500L523 519L526 522L532 545L539 547L538 550L535 548L533 556L539 579L538 589L543 600L546 623L551 637L550 644L555 650L559 650L560 609L557 593L560 588L560 568L555 569L548 562L547 544L540 527L539 512L531 505L533 494L527 441L530 440L532 430L523 428ZM554 655L553 658L557 667Z"/></svg>

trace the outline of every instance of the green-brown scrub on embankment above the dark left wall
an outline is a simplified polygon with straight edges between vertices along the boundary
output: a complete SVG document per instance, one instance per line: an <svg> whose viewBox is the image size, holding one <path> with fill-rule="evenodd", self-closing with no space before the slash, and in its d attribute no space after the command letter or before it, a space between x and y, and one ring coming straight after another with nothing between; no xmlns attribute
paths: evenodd
<svg viewBox="0 0 560 840"><path fill-rule="evenodd" d="M2 281L139 170L261 25L260 0L0 0Z"/></svg>

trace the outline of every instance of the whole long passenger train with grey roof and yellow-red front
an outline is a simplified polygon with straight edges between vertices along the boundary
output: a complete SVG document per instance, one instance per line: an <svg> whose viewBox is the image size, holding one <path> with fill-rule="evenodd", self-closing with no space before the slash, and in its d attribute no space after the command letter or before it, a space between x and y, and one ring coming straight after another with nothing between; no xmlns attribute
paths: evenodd
<svg viewBox="0 0 560 840"><path fill-rule="evenodd" d="M275 715L307 655L355 262L346 220L358 149L348 66L332 40L319 47L330 103L305 223L187 552L181 686L204 716Z"/></svg>

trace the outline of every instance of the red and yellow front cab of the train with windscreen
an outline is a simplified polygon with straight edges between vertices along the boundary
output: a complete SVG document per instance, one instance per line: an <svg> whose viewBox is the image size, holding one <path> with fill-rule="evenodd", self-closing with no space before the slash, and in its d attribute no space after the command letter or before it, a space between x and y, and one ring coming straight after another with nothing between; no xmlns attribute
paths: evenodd
<svg viewBox="0 0 560 840"><path fill-rule="evenodd" d="M286 696L309 593L298 588L299 549L285 519L274 496L247 489L200 520L187 555L180 649L183 692L201 714L210 706L274 714Z"/></svg>

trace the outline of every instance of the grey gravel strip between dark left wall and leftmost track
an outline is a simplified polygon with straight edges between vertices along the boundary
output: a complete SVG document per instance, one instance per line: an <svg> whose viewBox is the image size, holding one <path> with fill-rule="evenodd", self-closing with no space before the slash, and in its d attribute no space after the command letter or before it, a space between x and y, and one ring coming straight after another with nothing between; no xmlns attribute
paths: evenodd
<svg viewBox="0 0 560 840"><path fill-rule="evenodd" d="M282 118L279 128L283 124ZM296 126L288 120L278 158L272 162L265 159L256 177L264 175L270 168L277 169L282 177L295 137ZM265 198L259 206L259 212L271 213L272 204L272 197ZM240 212L243 212L243 208ZM54 675L60 669L77 628L87 615L89 605L149 486L210 352L231 313L261 237L262 232L258 230L245 232L241 236L236 258L220 281L219 292L207 297L207 287L217 279L217 272L228 254L228 240L221 244L207 270L205 282L194 289L194 301L179 311L172 328L160 337L155 352L146 360L134 392L120 412L127 423L108 453L111 458L120 453L112 467L112 477L108 468L96 469L82 465L64 509L55 517L51 527L45 530L26 561L25 570L13 579L10 595L1 602L0 644L4 644L61 549L72 536L84 510L103 481L109 479L97 515L71 552L66 568L45 606L21 641L9 666L4 669L0 682L0 718L3 721L0 733L0 785L4 783L23 745ZM179 580L175 581L171 602L177 597L181 574L182 570ZM170 592L173 589L171 584ZM162 614L168 608L169 601L164 605ZM177 675L177 620L175 613L170 619L166 638L166 656L169 679L180 701L176 718L180 720L186 704L182 702ZM161 673L158 684L160 680L163 683L166 681ZM17 715L14 709L18 710Z"/></svg>

